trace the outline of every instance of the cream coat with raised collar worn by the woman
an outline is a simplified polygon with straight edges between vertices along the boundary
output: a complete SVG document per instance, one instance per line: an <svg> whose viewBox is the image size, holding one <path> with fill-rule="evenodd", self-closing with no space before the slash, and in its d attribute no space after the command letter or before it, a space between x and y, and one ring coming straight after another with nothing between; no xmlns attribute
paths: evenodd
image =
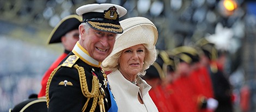
<svg viewBox="0 0 256 112"><path fill-rule="evenodd" d="M107 75L108 82L118 105L118 112L157 112L156 105L149 96L151 86L137 76L137 85L125 79L119 70ZM139 103L138 93L144 104Z"/></svg>

